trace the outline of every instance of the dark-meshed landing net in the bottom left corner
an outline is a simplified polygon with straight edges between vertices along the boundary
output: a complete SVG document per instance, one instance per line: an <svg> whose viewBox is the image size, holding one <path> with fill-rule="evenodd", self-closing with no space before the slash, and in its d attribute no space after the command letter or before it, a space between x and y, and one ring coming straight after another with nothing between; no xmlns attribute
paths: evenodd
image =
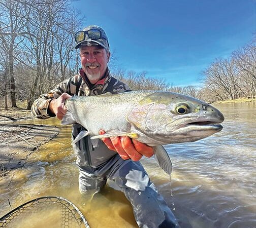
<svg viewBox="0 0 256 228"><path fill-rule="evenodd" d="M40 197L26 202L0 218L0 227L90 228L82 212L61 197Z"/></svg>

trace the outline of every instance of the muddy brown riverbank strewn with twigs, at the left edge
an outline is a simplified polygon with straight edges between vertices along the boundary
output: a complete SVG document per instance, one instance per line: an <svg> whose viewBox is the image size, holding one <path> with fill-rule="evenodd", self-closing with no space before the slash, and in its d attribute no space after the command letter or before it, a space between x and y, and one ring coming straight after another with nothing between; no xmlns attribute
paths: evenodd
<svg viewBox="0 0 256 228"><path fill-rule="evenodd" d="M55 138L59 129L55 126L21 124L32 119L31 113L22 108L0 109L0 177L12 169L22 167L38 148Z"/></svg>

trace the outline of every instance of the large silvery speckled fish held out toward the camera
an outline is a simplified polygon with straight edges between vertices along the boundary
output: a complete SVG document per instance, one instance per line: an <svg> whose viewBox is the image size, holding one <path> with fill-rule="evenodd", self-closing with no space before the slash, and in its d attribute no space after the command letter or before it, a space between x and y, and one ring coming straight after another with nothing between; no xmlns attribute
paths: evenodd
<svg viewBox="0 0 256 228"><path fill-rule="evenodd" d="M75 96L66 100L67 113L61 124L81 124L73 143L90 135L129 136L154 147L155 159L168 174L172 163L162 145L193 142L222 129L222 113L195 98L162 91L132 91L98 96ZM100 130L106 134L99 135Z"/></svg>

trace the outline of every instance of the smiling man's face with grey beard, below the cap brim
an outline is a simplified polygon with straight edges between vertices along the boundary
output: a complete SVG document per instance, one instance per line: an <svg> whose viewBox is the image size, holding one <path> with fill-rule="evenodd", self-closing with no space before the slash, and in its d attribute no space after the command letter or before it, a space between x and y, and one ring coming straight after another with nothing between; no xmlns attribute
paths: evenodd
<svg viewBox="0 0 256 228"><path fill-rule="evenodd" d="M105 74L110 52L101 46L81 46L81 65L91 84L97 83Z"/></svg>

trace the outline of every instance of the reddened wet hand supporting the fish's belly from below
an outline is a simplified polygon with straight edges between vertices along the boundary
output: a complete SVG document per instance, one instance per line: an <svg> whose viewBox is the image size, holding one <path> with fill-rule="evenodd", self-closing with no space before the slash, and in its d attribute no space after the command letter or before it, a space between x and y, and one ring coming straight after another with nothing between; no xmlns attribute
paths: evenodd
<svg viewBox="0 0 256 228"><path fill-rule="evenodd" d="M105 131L100 130L100 134L105 134ZM128 136L103 138L102 140L109 149L117 151L123 160L139 161L143 155L150 158L154 154L152 147Z"/></svg>

